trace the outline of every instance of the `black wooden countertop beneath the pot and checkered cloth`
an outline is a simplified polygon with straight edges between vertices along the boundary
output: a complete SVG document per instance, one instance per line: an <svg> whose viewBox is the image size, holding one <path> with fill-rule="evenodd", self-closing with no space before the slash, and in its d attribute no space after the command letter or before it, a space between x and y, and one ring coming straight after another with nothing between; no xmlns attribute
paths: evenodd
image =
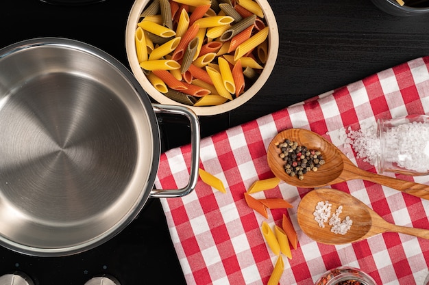
<svg viewBox="0 0 429 285"><path fill-rule="evenodd" d="M3 1L0 47L29 38L72 38L93 44L128 66L125 25L133 2L61 6L39 0ZM370 0L269 3L280 31L280 51L269 81L242 107L201 117L201 137L429 55L429 14L391 16ZM167 131L174 139L168 139L166 149L188 141L186 136L175 135L175 130ZM83 284L76 280L114 270L122 285L185 284L159 200L149 200L136 220L111 242L85 255L27 258L2 249L0 276L19 270L31 273L36 284ZM134 259L133 266L125 265Z"/></svg>

